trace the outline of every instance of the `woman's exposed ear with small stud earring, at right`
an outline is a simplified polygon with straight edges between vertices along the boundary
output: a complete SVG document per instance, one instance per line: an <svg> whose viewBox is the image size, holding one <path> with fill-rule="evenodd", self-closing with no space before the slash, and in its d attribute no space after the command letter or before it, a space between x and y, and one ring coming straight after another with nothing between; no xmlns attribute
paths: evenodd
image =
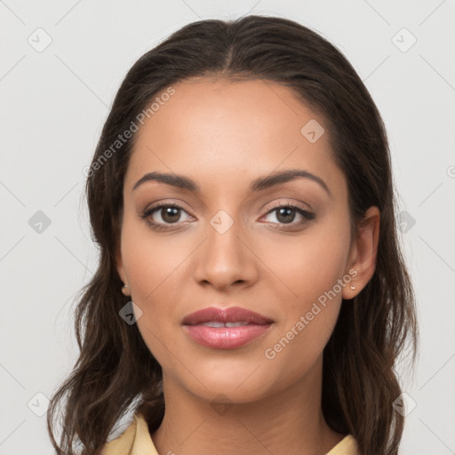
<svg viewBox="0 0 455 455"><path fill-rule="evenodd" d="M349 252L347 270L354 269L349 286L343 287L343 299L353 299L366 284L376 269L376 256L379 243L379 220L380 212L378 207L371 206L358 225L358 235L353 240ZM350 286L355 286L351 289Z"/></svg>

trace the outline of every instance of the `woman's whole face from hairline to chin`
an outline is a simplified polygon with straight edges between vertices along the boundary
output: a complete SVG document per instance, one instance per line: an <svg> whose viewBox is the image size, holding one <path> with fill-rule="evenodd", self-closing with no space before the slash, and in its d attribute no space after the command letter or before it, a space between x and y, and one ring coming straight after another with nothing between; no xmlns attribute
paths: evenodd
<svg viewBox="0 0 455 455"><path fill-rule="evenodd" d="M271 82L199 78L173 88L137 133L117 264L165 387L244 403L319 383L323 347L355 283L347 182L323 120ZM251 188L289 170L309 177ZM140 182L151 172L195 188ZM153 212L157 204L167 207ZM207 307L242 307L272 323L183 323Z"/></svg>

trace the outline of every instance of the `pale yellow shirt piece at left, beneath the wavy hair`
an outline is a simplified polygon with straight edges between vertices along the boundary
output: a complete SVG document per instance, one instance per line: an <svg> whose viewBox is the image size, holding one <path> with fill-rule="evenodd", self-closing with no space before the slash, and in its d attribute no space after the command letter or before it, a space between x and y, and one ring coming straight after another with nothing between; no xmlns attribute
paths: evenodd
<svg viewBox="0 0 455 455"><path fill-rule="evenodd" d="M121 435L103 446L100 455L157 454L152 438L148 433L147 421L143 416L135 414L130 422Z"/></svg>

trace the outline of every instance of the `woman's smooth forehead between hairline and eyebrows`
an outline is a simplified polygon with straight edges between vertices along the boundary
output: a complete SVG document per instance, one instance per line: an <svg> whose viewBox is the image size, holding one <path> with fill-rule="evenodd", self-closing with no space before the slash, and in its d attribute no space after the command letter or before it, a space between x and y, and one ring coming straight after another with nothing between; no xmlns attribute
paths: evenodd
<svg viewBox="0 0 455 455"><path fill-rule="evenodd" d="M201 182L213 183L216 176L224 183L241 178L249 183L257 175L290 168L344 185L323 118L289 87L201 77L172 87L172 96L136 133L125 189L151 171Z"/></svg>

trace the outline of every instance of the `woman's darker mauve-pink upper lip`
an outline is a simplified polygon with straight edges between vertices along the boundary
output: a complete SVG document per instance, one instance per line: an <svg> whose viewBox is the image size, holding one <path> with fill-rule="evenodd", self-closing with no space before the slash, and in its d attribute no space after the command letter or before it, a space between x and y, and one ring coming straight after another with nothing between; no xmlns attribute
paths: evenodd
<svg viewBox="0 0 455 455"><path fill-rule="evenodd" d="M273 323L266 316L241 307L208 307L195 311L183 319L183 323L186 325L208 323L210 321L220 321L222 323L236 323L239 321L259 324Z"/></svg>

